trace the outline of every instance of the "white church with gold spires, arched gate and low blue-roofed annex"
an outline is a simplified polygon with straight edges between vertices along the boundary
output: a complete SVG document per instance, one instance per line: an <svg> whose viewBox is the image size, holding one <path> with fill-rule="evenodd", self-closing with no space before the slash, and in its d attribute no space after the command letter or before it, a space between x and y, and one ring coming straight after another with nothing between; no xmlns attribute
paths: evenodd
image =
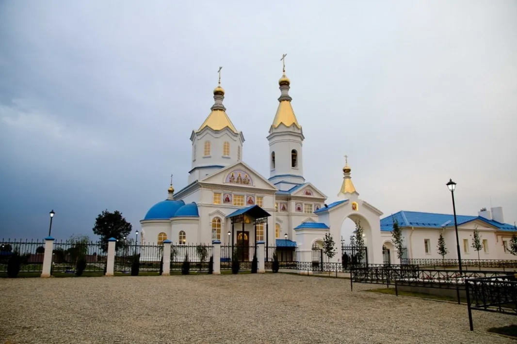
<svg viewBox="0 0 517 344"><path fill-rule="evenodd" d="M327 196L303 177L305 137L288 94L290 84L284 70L278 110L267 136L270 176L266 178L243 161L244 135L226 114L219 81L210 114L190 136L188 185L175 192L171 181L168 198L151 207L140 222L141 243L207 244L218 240L222 245L252 246L264 241L266 246L296 248L298 261L311 261L312 247L322 246L325 233L340 245L343 222L351 218L360 220L364 229L369 263L383 263L386 256L397 263L390 232L396 219L403 228L407 258L441 258L436 253L440 232L444 232L449 249L446 258L457 258L451 230L454 223L452 227L446 223L451 215L402 211L381 219L380 210L359 198L347 162L338 200L326 204ZM259 213L264 215L255 221L251 214ZM508 244L514 228L503 223L502 211L500 217L490 220L487 215L458 217L465 220L459 223L461 240L470 238L474 226L482 231L483 240L488 240L483 241L488 249L482 258L513 259L503 243ZM340 258L337 254L330 261Z"/></svg>

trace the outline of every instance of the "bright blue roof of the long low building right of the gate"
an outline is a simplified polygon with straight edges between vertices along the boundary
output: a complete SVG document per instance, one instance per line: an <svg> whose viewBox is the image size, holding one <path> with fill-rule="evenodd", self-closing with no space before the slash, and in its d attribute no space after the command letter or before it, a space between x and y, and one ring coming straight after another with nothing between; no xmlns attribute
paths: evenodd
<svg viewBox="0 0 517 344"><path fill-rule="evenodd" d="M481 216L456 215L456 220L458 225L462 225L474 220L480 220L496 227L499 230L515 230L513 225L500 223L494 220L488 220L488 218ZM382 218L381 230L391 231L393 229L393 221L397 221L400 227L442 228L454 226L454 215L402 210Z"/></svg>

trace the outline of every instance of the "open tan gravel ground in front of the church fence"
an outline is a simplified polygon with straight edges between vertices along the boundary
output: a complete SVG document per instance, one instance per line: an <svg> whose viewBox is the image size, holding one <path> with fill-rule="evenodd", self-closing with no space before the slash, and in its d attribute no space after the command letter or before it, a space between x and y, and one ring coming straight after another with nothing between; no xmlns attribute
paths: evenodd
<svg viewBox="0 0 517 344"><path fill-rule="evenodd" d="M512 343L516 318L288 274L0 280L2 343Z"/></svg>

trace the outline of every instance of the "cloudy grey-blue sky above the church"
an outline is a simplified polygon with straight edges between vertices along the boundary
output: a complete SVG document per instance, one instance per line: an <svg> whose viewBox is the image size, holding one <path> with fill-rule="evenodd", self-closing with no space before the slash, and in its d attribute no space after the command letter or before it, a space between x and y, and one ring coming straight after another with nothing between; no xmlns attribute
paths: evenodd
<svg viewBox="0 0 517 344"><path fill-rule="evenodd" d="M93 237L187 183L213 103L265 176L287 53L305 177L386 215L503 207L517 221L515 1L0 2L0 238Z"/></svg>

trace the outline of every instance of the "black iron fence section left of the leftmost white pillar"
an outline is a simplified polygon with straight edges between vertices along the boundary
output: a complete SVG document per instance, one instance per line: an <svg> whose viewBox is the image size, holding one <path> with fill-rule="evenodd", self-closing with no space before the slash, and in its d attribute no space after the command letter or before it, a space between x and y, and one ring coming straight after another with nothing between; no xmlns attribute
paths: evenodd
<svg viewBox="0 0 517 344"><path fill-rule="evenodd" d="M20 271L41 272L45 252L44 241L2 239L0 241L0 272L7 272L7 263L17 252L21 258Z"/></svg>

